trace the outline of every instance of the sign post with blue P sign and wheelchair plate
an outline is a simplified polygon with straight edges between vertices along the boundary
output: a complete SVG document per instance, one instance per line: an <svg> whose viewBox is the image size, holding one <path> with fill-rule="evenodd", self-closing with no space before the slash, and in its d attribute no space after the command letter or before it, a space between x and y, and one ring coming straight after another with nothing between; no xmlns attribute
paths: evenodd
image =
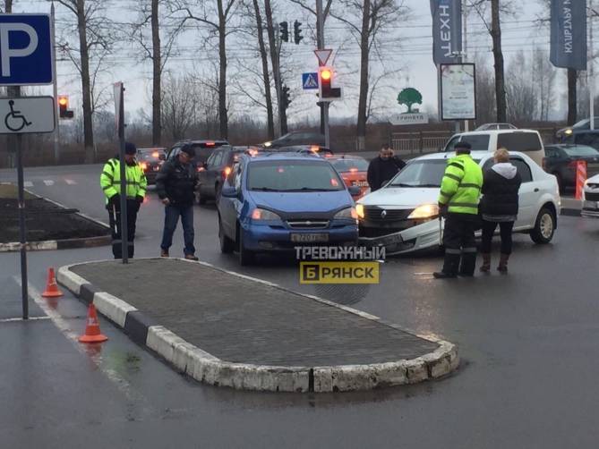
<svg viewBox="0 0 599 449"><path fill-rule="evenodd" d="M0 14L0 86L15 86L13 97L0 102L0 133L16 134L23 319L29 319L29 288L22 134L54 131L56 106L51 97L50 101L21 98L19 86L52 84L54 60L50 23L48 14ZM40 107L39 111L30 108L31 101Z"/></svg>

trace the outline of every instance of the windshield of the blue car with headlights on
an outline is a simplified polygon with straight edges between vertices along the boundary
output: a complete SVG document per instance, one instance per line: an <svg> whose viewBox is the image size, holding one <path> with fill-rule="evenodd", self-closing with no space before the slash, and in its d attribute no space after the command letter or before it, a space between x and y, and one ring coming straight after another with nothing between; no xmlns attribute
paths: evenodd
<svg viewBox="0 0 599 449"><path fill-rule="evenodd" d="M329 163L264 161L248 166L251 191L342 191L345 189Z"/></svg>

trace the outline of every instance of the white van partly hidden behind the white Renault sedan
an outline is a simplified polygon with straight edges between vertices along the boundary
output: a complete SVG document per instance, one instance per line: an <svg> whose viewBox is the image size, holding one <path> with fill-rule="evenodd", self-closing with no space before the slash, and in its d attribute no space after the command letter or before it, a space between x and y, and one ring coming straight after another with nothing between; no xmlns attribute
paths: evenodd
<svg viewBox="0 0 599 449"><path fill-rule="evenodd" d="M442 149L444 152L455 151L454 147L460 141L472 145L472 150L495 151L497 148L506 148L508 151L520 151L533 159L539 166L543 166L545 148L538 131L534 130L489 130L470 131L454 134Z"/></svg>

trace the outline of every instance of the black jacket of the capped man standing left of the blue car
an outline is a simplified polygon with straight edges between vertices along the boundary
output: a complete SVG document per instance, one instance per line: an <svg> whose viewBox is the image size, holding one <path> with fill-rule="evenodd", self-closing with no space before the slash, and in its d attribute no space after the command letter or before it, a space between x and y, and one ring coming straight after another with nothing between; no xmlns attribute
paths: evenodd
<svg viewBox="0 0 599 449"><path fill-rule="evenodd" d="M193 163L181 164L178 158L169 159L156 177L160 199L169 199L175 206L192 206L198 174Z"/></svg>

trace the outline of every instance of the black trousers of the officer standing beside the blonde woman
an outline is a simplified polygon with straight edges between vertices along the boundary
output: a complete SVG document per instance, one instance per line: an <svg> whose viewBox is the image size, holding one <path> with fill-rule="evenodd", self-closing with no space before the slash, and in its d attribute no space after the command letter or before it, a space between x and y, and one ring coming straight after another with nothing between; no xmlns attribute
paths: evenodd
<svg viewBox="0 0 599 449"><path fill-rule="evenodd" d="M477 216L449 214L445 219L443 272L449 275L474 275L476 265ZM460 263L461 262L461 263Z"/></svg>

